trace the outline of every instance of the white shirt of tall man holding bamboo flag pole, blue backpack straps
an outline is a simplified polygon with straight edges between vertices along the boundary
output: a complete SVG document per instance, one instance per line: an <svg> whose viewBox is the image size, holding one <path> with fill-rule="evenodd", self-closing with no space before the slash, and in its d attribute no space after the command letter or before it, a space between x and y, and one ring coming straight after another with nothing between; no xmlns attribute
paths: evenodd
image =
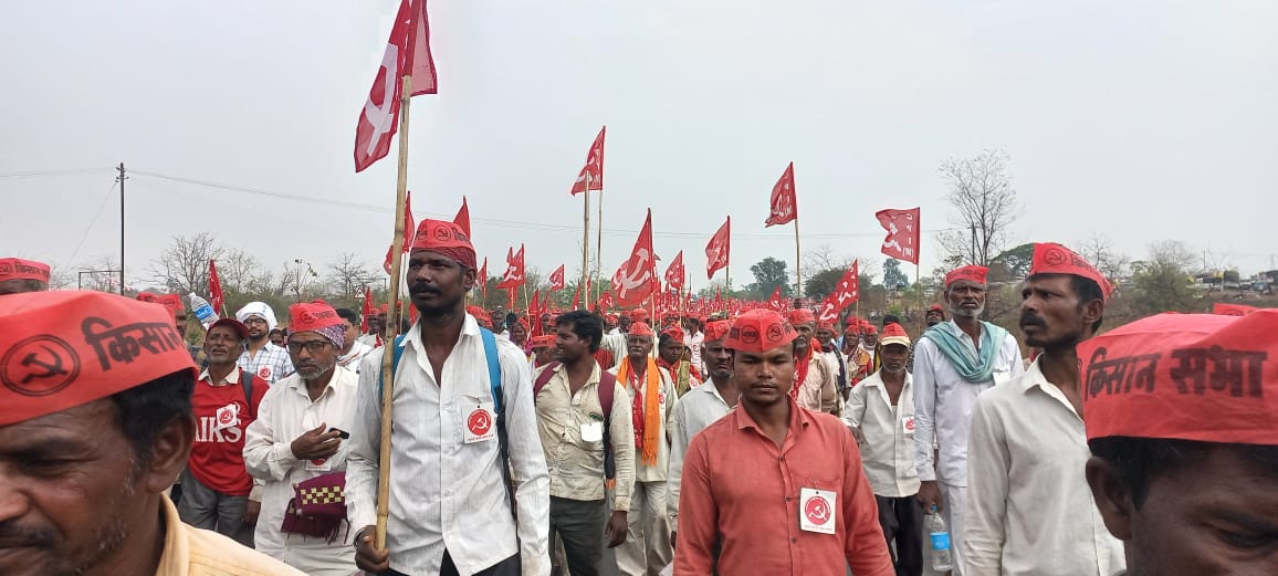
<svg viewBox="0 0 1278 576"><path fill-rule="evenodd" d="M377 520L382 423L378 375L385 351L382 347L366 356L359 374L355 409L359 425L350 430L346 473L346 507L354 530ZM497 434L465 442L469 416L479 407L493 409L479 324L466 314L461 336L440 370L442 383L435 381L420 324L414 324L405 336L404 355L395 373L386 535L391 568L399 572L440 573L447 549L463 575L516 553L524 575L550 575L550 475L537 437L528 358L501 338L497 354L511 478L519 503L518 526L502 480Z"/></svg>

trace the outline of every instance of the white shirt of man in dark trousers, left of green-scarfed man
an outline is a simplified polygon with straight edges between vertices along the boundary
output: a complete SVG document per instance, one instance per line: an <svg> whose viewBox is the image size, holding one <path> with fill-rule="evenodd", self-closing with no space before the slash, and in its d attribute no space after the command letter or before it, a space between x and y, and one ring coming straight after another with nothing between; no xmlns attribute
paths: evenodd
<svg viewBox="0 0 1278 576"><path fill-rule="evenodd" d="M860 429L861 465L874 496L902 498L919 493L914 470L914 378L905 373L905 386L896 406L883 383L883 370L865 378L847 396L843 424Z"/></svg>

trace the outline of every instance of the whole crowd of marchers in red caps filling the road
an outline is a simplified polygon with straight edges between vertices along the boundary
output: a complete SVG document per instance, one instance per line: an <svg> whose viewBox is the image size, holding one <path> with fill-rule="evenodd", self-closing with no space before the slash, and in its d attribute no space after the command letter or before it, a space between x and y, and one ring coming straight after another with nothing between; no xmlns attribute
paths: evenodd
<svg viewBox="0 0 1278 576"><path fill-rule="evenodd" d="M395 337L250 303L192 346L176 296L47 282L0 259L4 575L1278 573L1278 312L1100 332L1111 284L1058 244L1025 359L982 267L914 337L527 318L465 305L474 248L433 220Z"/></svg>

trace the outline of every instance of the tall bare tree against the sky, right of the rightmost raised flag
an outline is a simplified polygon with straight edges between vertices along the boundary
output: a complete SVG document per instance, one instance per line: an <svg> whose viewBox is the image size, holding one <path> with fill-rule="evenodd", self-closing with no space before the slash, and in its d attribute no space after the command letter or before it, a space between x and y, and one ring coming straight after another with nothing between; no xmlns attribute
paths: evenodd
<svg viewBox="0 0 1278 576"><path fill-rule="evenodd" d="M1006 152L987 149L974 158L950 158L941 163L941 179L950 188L946 199L957 213L951 222L962 231L937 236L947 259L989 266L1003 252L1007 229L1021 212L1007 175Z"/></svg>

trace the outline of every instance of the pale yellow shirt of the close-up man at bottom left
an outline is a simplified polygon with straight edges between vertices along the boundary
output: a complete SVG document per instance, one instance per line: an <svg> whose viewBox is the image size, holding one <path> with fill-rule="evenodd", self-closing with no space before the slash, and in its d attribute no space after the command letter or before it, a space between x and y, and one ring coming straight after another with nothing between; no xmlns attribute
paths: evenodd
<svg viewBox="0 0 1278 576"><path fill-rule="evenodd" d="M164 498L164 554L156 576L305 576L221 534L181 524Z"/></svg>

